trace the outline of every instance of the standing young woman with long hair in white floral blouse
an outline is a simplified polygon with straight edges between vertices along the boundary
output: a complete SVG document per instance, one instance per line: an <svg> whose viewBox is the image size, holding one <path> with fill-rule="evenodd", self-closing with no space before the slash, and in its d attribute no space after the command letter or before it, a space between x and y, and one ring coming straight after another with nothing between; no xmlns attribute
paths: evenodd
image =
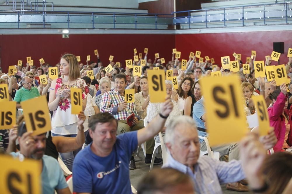
<svg viewBox="0 0 292 194"><path fill-rule="evenodd" d="M88 87L83 79L80 79L80 70L76 56L65 54L60 60L61 77L54 79L50 88L50 97L48 107L53 112L52 117L52 136L75 137L77 130L77 115L71 114L71 88L81 88L82 90L82 107L83 111L86 107ZM84 126L87 126L86 124ZM79 151L62 153L62 160L67 168L72 171L74 156Z"/></svg>

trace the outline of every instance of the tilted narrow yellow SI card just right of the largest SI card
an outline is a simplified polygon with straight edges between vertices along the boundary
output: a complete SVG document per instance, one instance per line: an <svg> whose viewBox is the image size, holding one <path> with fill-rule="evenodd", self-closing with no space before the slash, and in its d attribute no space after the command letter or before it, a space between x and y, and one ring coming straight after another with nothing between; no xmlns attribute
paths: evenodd
<svg viewBox="0 0 292 194"><path fill-rule="evenodd" d="M265 136L270 130L270 120L267 111L267 105L263 95L253 96L253 104L256 106L258 115L258 125L260 127L260 136Z"/></svg>

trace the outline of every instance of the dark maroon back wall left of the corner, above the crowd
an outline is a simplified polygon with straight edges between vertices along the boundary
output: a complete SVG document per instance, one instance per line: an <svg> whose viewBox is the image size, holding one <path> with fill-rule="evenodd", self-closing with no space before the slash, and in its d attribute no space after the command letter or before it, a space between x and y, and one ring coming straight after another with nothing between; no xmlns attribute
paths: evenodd
<svg viewBox="0 0 292 194"><path fill-rule="evenodd" d="M159 52L166 61L171 60L171 49L175 47L175 35L151 34L93 34L74 35L62 38L62 35L1 35L1 67L8 72L9 65L17 65L18 60L26 63L26 57L31 56L34 65L39 67L39 59L55 65L64 53L81 56L81 63L86 63L86 56L97 60L94 50L98 49L100 59L108 65L109 55L115 62L125 65L126 59L133 59L133 49L143 53L148 48L148 58L154 60L154 54ZM169 51L166 48L170 48Z"/></svg>

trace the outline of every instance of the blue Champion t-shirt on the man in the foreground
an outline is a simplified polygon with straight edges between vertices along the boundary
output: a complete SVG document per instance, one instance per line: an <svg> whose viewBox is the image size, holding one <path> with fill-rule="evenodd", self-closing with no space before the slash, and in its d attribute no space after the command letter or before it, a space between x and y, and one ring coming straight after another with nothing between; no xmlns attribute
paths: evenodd
<svg viewBox="0 0 292 194"><path fill-rule="evenodd" d="M137 131L117 136L112 152L95 155L91 144L81 150L73 163L73 191L77 193L132 193L129 160L138 146Z"/></svg>

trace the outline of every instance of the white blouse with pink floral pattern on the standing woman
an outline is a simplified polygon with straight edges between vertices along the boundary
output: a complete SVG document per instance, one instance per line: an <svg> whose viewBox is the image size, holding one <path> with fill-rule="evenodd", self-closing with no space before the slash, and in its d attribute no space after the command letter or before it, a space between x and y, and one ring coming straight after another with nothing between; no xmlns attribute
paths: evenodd
<svg viewBox="0 0 292 194"><path fill-rule="evenodd" d="M88 87L83 79L78 78L74 84L66 85L62 82L62 78L58 78L55 86L55 91L58 88L69 90L70 88L81 88L82 99L87 97L89 92ZM57 92L56 92L57 96ZM70 134L68 131L65 132L62 127L74 124L77 122L77 115L71 114L71 99L61 97L58 108L53 112L52 117L52 132L55 134Z"/></svg>

